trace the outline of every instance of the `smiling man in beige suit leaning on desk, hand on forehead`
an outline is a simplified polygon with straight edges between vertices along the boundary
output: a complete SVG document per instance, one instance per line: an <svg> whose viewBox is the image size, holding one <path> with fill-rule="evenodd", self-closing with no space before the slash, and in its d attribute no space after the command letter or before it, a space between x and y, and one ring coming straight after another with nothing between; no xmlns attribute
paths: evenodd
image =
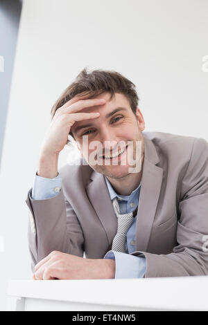
<svg viewBox="0 0 208 325"><path fill-rule="evenodd" d="M138 100L84 69L54 104L26 199L34 279L208 275L208 144L144 132ZM58 172L69 134L82 158Z"/></svg>

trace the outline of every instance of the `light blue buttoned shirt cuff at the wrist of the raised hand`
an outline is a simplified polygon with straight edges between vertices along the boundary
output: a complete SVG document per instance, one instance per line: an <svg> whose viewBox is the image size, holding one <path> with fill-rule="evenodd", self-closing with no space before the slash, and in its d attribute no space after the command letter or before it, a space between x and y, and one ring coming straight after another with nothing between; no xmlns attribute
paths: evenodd
<svg viewBox="0 0 208 325"><path fill-rule="evenodd" d="M53 198L61 189L62 178L59 173L55 178L45 178L35 175L35 180L32 189L32 198L34 200L46 200Z"/></svg>

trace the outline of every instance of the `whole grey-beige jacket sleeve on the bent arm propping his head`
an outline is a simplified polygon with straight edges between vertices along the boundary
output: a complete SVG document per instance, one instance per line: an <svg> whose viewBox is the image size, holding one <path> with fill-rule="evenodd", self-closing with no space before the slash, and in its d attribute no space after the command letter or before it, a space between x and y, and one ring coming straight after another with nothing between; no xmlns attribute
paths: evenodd
<svg viewBox="0 0 208 325"><path fill-rule="evenodd" d="M28 245L31 269L54 250L83 257L84 238L78 218L63 190L53 198L34 200L32 188L26 203L29 208Z"/></svg>

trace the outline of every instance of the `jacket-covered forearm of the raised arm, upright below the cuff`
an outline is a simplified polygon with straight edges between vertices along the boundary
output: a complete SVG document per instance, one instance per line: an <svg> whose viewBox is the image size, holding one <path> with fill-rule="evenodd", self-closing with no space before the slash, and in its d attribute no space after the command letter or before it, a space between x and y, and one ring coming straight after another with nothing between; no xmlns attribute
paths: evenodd
<svg viewBox="0 0 208 325"><path fill-rule="evenodd" d="M47 200L33 200L29 191L26 203L35 226L28 229L33 263L38 263L53 250L68 253L70 241L67 240L67 216L62 192Z"/></svg>

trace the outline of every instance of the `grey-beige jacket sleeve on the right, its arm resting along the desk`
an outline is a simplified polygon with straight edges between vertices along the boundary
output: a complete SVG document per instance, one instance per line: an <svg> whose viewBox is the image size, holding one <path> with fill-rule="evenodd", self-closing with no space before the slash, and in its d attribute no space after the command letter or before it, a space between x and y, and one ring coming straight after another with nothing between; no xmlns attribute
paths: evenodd
<svg viewBox="0 0 208 325"><path fill-rule="evenodd" d="M208 275L208 143L197 138L182 179L177 246L171 254L144 254L144 277Z"/></svg>

